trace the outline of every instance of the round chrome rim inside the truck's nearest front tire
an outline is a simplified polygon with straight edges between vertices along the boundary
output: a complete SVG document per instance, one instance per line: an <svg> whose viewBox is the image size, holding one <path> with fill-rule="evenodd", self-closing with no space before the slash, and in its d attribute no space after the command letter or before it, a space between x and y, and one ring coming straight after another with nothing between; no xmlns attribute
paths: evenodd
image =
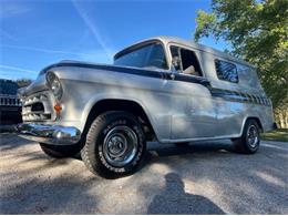
<svg viewBox="0 0 288 216"><path fill-rule="evenodd" d="M112 166L122 167L133 161L137 147L137 136L132 128L115 126L104 138L103 155Z"/></svg>

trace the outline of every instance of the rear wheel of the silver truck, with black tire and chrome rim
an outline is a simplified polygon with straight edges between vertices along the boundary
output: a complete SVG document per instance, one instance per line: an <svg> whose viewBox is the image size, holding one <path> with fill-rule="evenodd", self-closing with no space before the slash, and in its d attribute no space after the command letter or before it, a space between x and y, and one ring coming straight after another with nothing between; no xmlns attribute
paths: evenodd
<svg viewBox="0 0 288 216"><path fill-rule="evenodd" d="M254 136L256 140L253 140ZM238 138L233 138L232 141L235 152L255 154L260 146L260 128L258 123L255 120L247 120L243 135Z"/></svg>

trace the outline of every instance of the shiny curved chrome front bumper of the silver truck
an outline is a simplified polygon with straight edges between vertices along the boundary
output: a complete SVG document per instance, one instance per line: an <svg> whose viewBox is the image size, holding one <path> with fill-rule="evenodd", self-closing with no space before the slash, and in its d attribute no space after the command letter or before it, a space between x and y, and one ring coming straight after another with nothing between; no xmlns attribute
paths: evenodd
<svg viewBox="0 0 288 216"><path fill-rule="evenodd" d="M73 126L23 123L17 132L27 140L53 145L71 145L81 140L81 132Z"/></svg>

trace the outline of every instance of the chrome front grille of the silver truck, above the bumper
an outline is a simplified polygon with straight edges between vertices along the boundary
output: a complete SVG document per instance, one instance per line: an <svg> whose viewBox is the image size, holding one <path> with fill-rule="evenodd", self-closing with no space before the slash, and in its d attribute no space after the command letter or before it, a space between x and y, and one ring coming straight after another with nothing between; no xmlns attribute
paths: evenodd
<svg viewBox="0 0 288 216"><path fill-rule="evenodd" d="M22 99L23 122L40 122L54 120L53 99L48 92L40 92Z"/></svg>

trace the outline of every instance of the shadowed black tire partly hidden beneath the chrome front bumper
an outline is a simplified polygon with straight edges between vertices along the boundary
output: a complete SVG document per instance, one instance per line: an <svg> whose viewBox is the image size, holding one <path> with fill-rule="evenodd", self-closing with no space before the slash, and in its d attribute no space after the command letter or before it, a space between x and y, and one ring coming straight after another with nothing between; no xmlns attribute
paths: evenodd
<svg viewBox="0 0 288 216"><path fill-rule="evenodd" d="M80 152L80 145L50 145L40 143L41 150L50 157L72 157Z"/></svg>

